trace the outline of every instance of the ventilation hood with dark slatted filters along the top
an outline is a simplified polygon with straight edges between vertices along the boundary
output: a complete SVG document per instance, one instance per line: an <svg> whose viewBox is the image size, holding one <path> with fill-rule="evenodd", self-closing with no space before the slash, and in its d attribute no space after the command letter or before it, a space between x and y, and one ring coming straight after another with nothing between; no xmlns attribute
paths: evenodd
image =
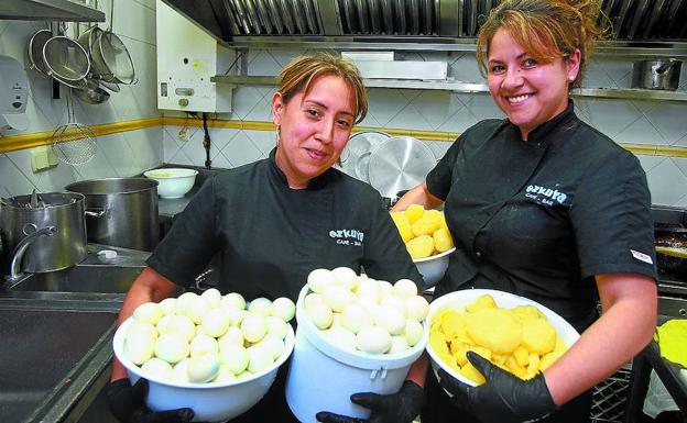
<svg viewBox="0 0 687 423"><path fill-rule="evenodd" d="M163 0L227 44L473 42L498 0ZM687 37L687 0L604 0L617 41Z"/></svg>

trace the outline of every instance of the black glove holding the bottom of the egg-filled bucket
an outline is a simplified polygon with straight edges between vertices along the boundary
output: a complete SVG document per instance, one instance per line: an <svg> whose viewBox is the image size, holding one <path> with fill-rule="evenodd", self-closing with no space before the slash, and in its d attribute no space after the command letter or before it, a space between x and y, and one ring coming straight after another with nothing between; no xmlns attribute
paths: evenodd
<svg viewBox="0 0 687 423"><path fill-rule="evenodd" d="M372 410L370 419L348 418L320 411L316 418L323 423L410 423L425 404L425 390L406 380L396 393L381 396L373 392L353 393L351 401Z"/></svg>

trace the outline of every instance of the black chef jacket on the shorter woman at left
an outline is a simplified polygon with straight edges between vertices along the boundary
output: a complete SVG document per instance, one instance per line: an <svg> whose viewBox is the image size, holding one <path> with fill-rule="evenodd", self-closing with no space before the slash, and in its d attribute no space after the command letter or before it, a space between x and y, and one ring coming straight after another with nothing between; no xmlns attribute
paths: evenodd
<svg viewBox="0 0 687 423"><path fill-rule="evenodd" d="M422 283L401 236L369 185L337 169L291 189L270 157L209 179L177 216L148 264L182 286L216 254L221 291L296 300L316 268L347 266Z"/></svg>

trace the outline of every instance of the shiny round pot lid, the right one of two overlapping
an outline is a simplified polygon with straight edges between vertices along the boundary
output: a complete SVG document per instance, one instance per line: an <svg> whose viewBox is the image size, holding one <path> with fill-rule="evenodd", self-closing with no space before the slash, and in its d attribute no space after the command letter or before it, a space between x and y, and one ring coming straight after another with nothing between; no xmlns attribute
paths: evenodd
<svg viewBox="0 0 687 423"><path fill-rule="evenodd" d="M393 136L370 155L370 185L382 197L393 198L423 182L435 165L434 153L423 142L412 136Z"/></svg>

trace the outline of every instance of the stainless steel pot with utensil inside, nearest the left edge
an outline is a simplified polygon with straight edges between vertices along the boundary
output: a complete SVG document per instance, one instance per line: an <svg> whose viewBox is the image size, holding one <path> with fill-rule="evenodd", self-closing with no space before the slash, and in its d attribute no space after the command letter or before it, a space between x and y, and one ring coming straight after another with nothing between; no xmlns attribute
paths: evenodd
<svg viewBox="0 0 687 423"><path fill-rule="evenodd" d="M10 252L25 247L21 270L44 272L64 269L86 258L84 196L73 192L12 197L0 204L0 222Z"/></svg>

